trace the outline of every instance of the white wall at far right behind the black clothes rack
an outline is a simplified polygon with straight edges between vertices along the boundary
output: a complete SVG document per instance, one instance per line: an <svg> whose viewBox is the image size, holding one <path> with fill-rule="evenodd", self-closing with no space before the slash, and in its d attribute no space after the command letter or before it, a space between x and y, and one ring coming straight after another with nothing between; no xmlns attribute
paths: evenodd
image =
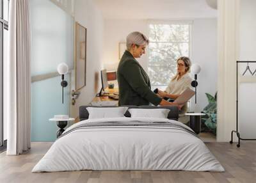
<svg viewBox="0 0 256 183"><path fill-rule="evenodd" d="M240 12L240 57L239 60L256 61L256 1L241 1ZM240 74L246 65L240 64ZM256 63L250 63L252 72L256 69ZM248 76L248 74L246 74ZM255 78L255 76L249 76ZM239 84L239 132L241 138L256 138L255 104L256 104L256 80L254 83Z"/></svg>

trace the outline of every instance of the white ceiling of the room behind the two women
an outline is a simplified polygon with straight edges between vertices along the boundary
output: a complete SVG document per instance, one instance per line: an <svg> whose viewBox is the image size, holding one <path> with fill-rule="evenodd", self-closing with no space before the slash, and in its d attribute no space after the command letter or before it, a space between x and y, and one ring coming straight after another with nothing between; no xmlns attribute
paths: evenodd
<svg viewBox="0 0 256 183"><path fill-rule="evenodd" d="M93 0L104 19L194 19L217 17L205 0Z"/></svg>

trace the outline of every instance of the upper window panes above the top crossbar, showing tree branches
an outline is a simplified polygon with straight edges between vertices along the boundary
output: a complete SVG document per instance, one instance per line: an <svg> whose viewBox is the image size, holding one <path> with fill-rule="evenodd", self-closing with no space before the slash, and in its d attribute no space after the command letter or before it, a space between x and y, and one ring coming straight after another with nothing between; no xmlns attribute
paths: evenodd
<svg viewBox="0 0 256 183"><path fill-rule="evenodd" d="M189 42L189 25L150 24L150 42Z"/></svg>

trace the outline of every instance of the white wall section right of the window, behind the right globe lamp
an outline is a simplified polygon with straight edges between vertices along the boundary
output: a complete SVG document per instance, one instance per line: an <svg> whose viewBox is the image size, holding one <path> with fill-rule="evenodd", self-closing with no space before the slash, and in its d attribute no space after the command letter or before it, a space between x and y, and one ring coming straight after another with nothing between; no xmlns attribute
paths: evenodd
<svg viewBox="0 0 256 183"><path fill-rule="evenodd" d="M193 21L191 47L191 61L201 67L198 74L197 104L192 100L191 107L194 106L195 111L200 112L208 104L205 93L215 95L217 91L217 19Z"/></svg>

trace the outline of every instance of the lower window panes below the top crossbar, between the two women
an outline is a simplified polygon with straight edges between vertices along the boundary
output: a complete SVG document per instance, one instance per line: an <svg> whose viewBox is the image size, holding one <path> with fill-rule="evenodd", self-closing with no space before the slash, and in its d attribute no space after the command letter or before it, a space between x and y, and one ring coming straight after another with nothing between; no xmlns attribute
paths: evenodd
<svg viewBox="0 0 256 183"><path fill-rule="evenodd" d="M152 85L167 85L176 74L176 60L189 55L189 43L150 43L148 76Z"/></svg>

